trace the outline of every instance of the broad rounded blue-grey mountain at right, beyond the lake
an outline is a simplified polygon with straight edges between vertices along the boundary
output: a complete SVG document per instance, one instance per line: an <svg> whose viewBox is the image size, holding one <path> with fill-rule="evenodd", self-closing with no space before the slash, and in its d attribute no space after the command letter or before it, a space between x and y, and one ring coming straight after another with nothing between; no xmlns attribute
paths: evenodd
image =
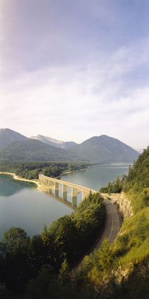
<svg viewBox="0 0 149 299"><path fill-rule="evenodd" d="M98 162L127 162L131 163L138 158L138 152L116 138L101 135L85 140L80 145L70 149L82 161Z"/></svg>

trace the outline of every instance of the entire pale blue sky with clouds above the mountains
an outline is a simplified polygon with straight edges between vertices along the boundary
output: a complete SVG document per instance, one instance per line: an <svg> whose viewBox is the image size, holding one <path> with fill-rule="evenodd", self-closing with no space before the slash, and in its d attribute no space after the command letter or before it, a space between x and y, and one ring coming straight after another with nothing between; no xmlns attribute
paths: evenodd
<svg viewBox="0 0 149 299"><path fill-rule="evenodd" d="M149 140L148 0L0 0L0 128Z"/></svg>

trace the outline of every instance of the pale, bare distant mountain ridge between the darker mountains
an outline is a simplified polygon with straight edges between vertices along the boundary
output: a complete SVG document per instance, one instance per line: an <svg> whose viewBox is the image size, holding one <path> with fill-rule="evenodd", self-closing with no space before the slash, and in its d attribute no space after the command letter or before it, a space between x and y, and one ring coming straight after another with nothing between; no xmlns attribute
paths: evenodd
<svg viewBox="0 0 149 299"><path fill-rule="evenodd" d="M43 135L40 135L40 134L37 135L37 136L31 137L31 139L39 140L41 142L46 143L47 145L52 145L53 147L60 147L61 149L64 149L64 150L67 150L67 149L77 145L76 142L72 142L72 141L64 142L64 141L56 140L54 138L43 136Z"/></svg>

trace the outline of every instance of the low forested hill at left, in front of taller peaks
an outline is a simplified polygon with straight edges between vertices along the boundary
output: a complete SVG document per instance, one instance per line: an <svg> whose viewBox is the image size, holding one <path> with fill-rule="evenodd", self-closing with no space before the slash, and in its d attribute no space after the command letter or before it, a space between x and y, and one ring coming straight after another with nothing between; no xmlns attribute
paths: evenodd
<svg viewBox="0 0 149 299"><path fill-rule="evenodd" d="M67 152L38 140L27 138L12 142L0 150L0 160L9 161L62 161L67 160Z"/></svg>

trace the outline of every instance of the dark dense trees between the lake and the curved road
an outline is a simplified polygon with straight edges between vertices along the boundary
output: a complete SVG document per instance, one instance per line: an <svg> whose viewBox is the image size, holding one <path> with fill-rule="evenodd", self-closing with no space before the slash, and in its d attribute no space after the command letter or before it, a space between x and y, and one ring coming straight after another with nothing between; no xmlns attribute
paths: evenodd
<svg viewBox="0 0 149 299"><path fill-rule="evenodd" d="M33 238L24 229L11 227L0 242L0 298L43 298L42 292L45 298L53 292L53 298L61 298L57 296L62 292L68 265L71 268L89 251L103 227L104 216L97 193L89 194L72 215L44 226L42 234ZM48 280L50 285L46 285Z"/></svg>

